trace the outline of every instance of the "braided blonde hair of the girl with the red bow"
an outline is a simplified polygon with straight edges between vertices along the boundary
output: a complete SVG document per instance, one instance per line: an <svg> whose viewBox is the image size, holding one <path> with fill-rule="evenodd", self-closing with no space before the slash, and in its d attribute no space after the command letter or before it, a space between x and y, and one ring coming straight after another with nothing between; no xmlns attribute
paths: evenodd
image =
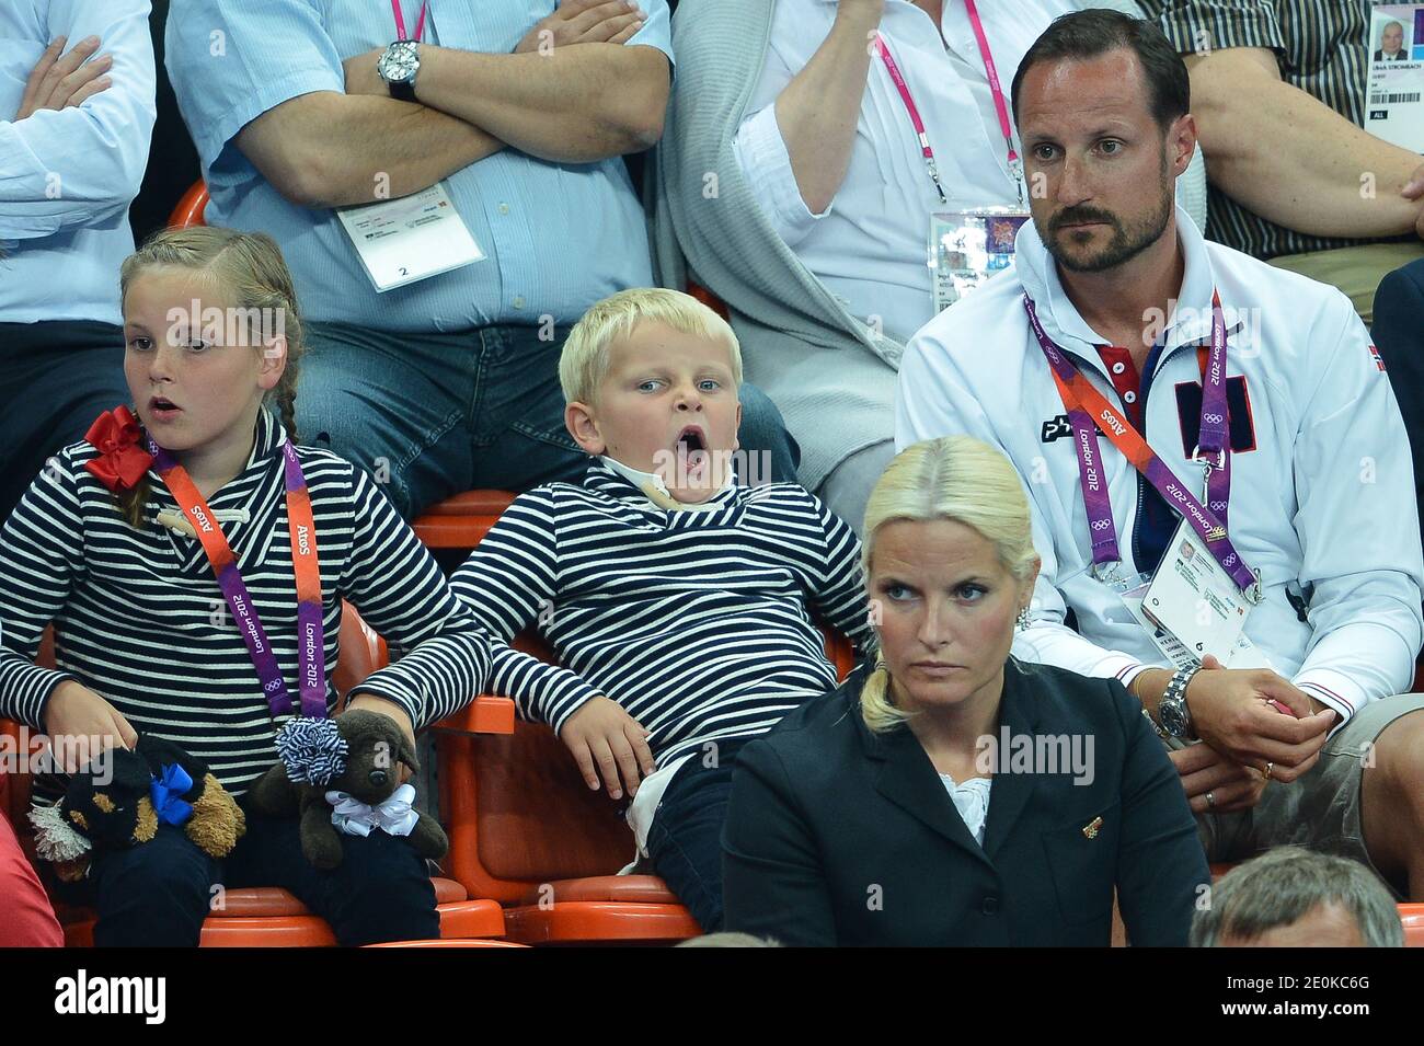
<svg viewBox="0 0 1424 1046"><path fill-rule="evenodd" d="M127 300L128 289L140 273L158 266L175 266L211 276L214 287L234 299L232 307L242 310L249 326L261 323L263 316L281 317L281 329L286 336L286 369L266 398L276 403L282 427L296 443L298 361L305 343L292 273L282 260L282 249L276 241L265 232L239 232L212 225L159 229L124 259L118 275L120 300ZM252 330L252 343L261 347L268 333L271 332ZM130 525L141 528L148 481L141 480L115 497Z"/></svg>

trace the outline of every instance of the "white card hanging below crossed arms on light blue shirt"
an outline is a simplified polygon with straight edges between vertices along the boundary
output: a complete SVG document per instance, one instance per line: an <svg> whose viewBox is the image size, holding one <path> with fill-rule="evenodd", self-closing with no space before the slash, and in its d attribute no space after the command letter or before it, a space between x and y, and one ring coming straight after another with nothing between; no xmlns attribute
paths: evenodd
<svg viewBox="0 0 1424 1046"><path fill-rule="evenodd" d="M440 182L400 199L340 208L336 216L377 293L484 258Z"/></svg>

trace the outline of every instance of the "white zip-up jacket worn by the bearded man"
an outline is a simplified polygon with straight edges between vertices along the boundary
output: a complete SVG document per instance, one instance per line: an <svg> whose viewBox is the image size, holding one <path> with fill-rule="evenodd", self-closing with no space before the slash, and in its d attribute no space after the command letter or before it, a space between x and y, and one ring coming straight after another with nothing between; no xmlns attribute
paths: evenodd
<svg viewBox="0 0 1424 1046"><path fill-rule="evenodd" d="M1424 555L1408 435L1388 376L1350 300L1334 287L1208 243L1176 213L1186 270L1146 384L1148 444L1198 497L1202 468L1183 447L1176 387L1200 387L1196 346L1210 340L1212 289L1227 326L1227 380L1245 379L1255 448L1232 454L1229 532L1260 574L1246 635L1282 676L1340 713L1408 690L1424 642ZM1028 326L1034 299L1048 336L1122 404L1096 346L1025 222L1017 265L930 320L900 367L896 445L965 433L1004 451L1028 494L1042 571L1015 655L1129 683L1168 662L1121 596L1091 574L1078 458L1048 361ZM1192 418L1195 431L1196 418ZM1067 435L1067 438L1057 438ZM1149 485L1106 438L1124 574ZM1307 592L1307 620L1287 599ZM1065 623L1074 612L1078 630Z"/></svg>

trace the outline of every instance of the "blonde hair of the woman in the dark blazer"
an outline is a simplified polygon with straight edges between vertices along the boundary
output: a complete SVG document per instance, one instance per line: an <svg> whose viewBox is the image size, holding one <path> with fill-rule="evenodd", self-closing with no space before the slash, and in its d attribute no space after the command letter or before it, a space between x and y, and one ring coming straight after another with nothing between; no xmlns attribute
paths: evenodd
<svg viewBox="0 0 1424 1046"><path fill-rule="evenodd" d="M900 519L951 519L970 527L994 545L1004 569L1020 582L1038 562L1018 472L1000 451L968 435L941 435L906 447L886 467L866 502L862 561L867 583L876 535ZM876 670L860 690L860 714L877 733L893 730L913 714L891 703L890 669L883 656L877 656Z"/></svg>

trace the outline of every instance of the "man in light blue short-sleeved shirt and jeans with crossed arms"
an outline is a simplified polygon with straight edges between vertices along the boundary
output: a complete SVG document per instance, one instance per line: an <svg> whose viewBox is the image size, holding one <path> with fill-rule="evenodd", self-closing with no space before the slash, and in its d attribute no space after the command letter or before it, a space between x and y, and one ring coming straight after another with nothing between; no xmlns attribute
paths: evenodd
<svg viewBox="0 0 1424 1046"><path fill-rule="evenodd" d="M172 1L206 221L269 233L296 283L299 437L407 518L587 468L560 349L590 305L652 283L619 157L662 134L672 44L666 0L642 1ZM437 184L487 256L377 293L336 208ZM742 404L742 447L793 478L776 408L749 386Z"/></svg>

